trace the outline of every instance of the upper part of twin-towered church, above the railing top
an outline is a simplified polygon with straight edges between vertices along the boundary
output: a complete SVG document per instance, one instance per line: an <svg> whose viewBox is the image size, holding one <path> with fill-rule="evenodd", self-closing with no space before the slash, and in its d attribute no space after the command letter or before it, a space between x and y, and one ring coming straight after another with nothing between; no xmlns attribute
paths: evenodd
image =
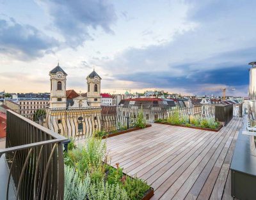
<svg viewBox="0 0 256 200"><path fill-rule="evenodd" d="M49 73L51 80L51 96L49 108L84 108L87 106L100 106L100 76L93 69L92 73L86 77L87 94L81 94L75 98L67 96L67 73L59 66ZM74 91L74 90L73 90Z"/></svg>

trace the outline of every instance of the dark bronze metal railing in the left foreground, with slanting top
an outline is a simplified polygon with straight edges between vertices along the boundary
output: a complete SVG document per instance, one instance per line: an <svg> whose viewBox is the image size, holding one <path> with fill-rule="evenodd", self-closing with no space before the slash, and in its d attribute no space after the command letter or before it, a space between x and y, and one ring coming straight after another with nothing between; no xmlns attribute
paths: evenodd
<svg viewBox="0 0 256 200"><path fill-rule="evenodd" d="M6 197L13 183L17 199L63 199L62 142L67 138L40 124L7 111L5 154L10 174ZM1 170L1 169L0 169Z"/></svg>

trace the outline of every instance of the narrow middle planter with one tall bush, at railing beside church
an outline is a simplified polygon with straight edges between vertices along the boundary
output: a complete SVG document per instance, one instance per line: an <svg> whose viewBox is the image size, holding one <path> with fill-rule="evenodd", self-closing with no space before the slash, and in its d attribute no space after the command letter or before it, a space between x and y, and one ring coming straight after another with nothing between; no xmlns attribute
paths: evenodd
<svg viewBox="0 0 256 200"><path fill-rule="evenodd" d="M99 132L95 133L95 137L102 138L102 139L111 138L113 136L118 136L118 135L124 134L126 132L137 131L139 129L144 129L144 128L151 127L151 126L152 126L151 124L146 123L146 120L143 116L143 111L139 111L138 116L136 118L136 122L134 124L132 124L132 126L129 127L129 129L127 129L127 126L120 127L120 125L118 125L118 127L120 127L120 128L118 128L117 130L108 131L108 132L107 131L99 131Z"/></svg>

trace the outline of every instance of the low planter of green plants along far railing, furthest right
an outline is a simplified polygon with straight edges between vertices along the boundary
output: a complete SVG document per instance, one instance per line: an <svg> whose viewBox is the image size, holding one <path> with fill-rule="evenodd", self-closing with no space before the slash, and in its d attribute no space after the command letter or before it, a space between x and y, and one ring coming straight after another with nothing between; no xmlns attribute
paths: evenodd
<svg viewBox="0 0 256 200"><path fill-rule="evenodd" d="M155 121L157 124L168 124L168 125L177 125L181 127L189 127L193 129L200 129L205 131L220 131L223 127L220 122L216 122L214 118L204 118L200 116L180 116L179 113L173 113L170 117L166 119L158 119Z"/></svg>

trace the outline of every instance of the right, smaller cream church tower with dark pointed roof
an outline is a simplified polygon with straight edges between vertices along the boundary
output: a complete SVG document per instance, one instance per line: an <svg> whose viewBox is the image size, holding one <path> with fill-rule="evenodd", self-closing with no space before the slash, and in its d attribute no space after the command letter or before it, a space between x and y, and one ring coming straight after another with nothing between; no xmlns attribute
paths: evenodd
<svg viewBox="0 0 256 200"><path fill-rule="evenodd" d="M87 76L87 101L90 106L100 106L100 76L93 69Z"/></svg>

